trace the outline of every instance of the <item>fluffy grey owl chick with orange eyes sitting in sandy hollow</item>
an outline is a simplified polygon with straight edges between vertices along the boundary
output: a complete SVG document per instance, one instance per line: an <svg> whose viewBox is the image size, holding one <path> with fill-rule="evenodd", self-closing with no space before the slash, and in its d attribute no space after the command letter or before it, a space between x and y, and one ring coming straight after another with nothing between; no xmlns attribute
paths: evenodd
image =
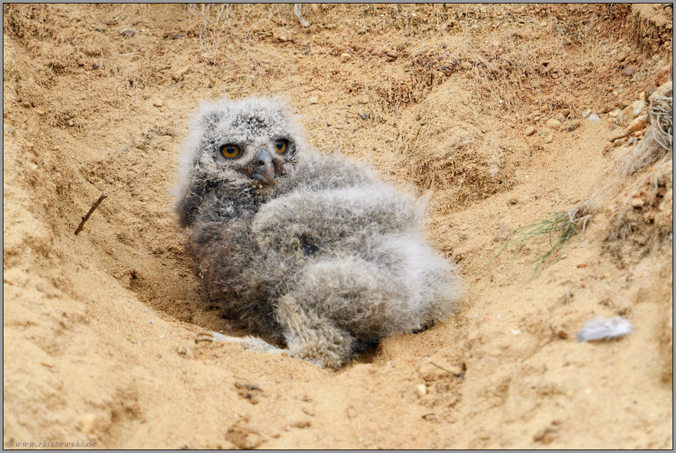
<svg viewBox="0 0 676 453"><path fill-rule="evenodd" d="M453 311L459 277L424 238L424 208L339 155L307 152L279 99L203 103L175 210L206 298L282 352L328 368Z"/></svg>

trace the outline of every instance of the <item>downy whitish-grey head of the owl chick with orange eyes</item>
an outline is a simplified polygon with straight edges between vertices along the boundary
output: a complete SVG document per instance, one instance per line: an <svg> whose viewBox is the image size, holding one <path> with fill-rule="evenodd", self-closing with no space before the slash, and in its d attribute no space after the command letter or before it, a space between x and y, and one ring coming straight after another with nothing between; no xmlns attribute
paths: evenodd
<svg viewBox="0 0 676 453"><path fill-rule="evenodd" d="M286 102L266 97L203 102L179 157L179 197L205 185L265 190L295 168L305 143Z"/></svg>

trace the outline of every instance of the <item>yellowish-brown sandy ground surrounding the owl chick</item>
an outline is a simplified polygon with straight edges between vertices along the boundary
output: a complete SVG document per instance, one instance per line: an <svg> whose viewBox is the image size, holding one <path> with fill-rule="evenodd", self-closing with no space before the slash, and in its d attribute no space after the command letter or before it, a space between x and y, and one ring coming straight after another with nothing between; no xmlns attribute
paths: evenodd
<svg viewBox="0 0 676 453"><path fill-rule="evenodd" d="M303 28L289 4L3 5L4 445L673 448L670 168L657 201L628 192L640 174L606 190L530 283L537 243L490 261L615 180L631 143L608 143L608 113L672 61L672 14L320 5ZM243 332L201 301L174 159L199 100L254 94L426 197L466 282L455 317L338 372L195 343ZM635 332L577 343L595 315Z"/></svg>

